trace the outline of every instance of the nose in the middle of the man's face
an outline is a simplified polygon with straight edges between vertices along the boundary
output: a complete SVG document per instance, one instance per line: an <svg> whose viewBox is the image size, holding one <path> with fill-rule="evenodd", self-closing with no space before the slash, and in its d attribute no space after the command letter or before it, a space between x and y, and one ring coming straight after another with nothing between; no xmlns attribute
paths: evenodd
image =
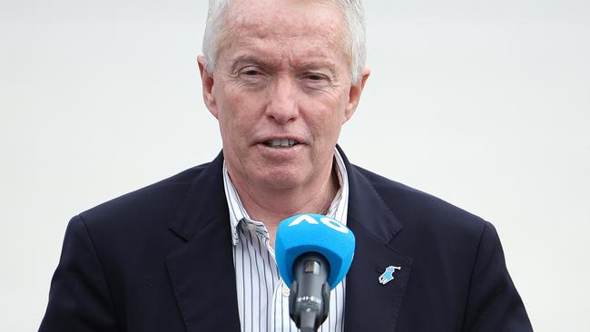
<svg viewBox="0 0 590 332"><path fill-rule="evenodd" d="M299 116L297 105L298 86L287 75L277 76L273 88L270 89L270 102L266 115L274 122L284 124Z"/></svg>

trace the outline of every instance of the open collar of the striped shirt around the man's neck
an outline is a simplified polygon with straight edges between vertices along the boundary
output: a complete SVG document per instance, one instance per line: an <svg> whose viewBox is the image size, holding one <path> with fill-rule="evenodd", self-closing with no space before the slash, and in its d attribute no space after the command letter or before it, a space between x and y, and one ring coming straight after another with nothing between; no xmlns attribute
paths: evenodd
<svg viewBox="0 0 590 332"><path fill-rule="evenodd" d="M336 173L338 175L338 181L340 188L334 200L332 200L328 216L335 220L339 220L342 224L346 225L347 214L349 210L349 176L344 166L344 161L337 149L334 149L334 160L336 161ZM225 198L228 201L228 208L230 210L230 227L231 227L231 240L233 245L237 245L240 237L238 236L238 226L240 222L244 222L249 225L249 228L256 229L261 235L269 237L268 230L264 227L261 221L251 220L248 215L248 211L244 208L241 203L240 195L231 182L230 173L226 167L225 161L223 161L223 187L225 188Z"/></svg>

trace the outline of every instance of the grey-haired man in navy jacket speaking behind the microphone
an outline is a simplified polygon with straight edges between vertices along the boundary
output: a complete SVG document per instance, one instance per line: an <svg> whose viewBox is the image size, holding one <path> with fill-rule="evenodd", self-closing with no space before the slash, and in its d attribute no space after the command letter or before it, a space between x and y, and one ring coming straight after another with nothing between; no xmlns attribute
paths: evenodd
<svg viewBox="0 0 590 332"><path fill-rule="evenodd" d="M491 224L349 163L369 77L359 1L210 1L222 153L74 217L41 331L295 331L277 225L328 214L355 259L322 330L530 331Z"/></svg>

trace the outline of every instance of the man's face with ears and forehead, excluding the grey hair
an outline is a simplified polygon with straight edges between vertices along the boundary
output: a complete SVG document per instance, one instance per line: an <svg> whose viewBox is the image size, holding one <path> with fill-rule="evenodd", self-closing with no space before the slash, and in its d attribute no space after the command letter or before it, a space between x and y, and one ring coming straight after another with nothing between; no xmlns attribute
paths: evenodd
<svg viewBox="0 0 590 332"><path fill-rule="evenodd" d="M232 179L304 188L331 170L340 127L362 90L350 84L339 9L244 0L231 3L228 18L214 72L200 67Z"/></svg>

